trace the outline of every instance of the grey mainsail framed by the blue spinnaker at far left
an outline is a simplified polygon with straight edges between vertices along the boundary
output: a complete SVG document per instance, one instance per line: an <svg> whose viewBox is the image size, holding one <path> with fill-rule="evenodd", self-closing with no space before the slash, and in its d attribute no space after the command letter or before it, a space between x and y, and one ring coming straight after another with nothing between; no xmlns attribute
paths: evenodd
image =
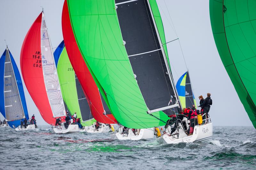
<svg viewBox="0 0 256 170"><path fill-rule="evenodd" d="M25 117L8 48L4 62L4 108L8 121Z"/></svg>

